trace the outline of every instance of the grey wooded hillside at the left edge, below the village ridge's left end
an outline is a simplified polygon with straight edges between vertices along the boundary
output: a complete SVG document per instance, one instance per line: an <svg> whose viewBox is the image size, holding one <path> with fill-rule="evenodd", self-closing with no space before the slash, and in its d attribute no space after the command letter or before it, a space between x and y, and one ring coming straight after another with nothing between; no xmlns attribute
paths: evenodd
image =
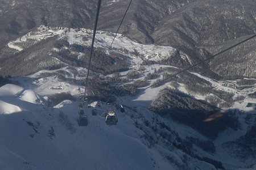
<svg viewBox="0 0 256 170"><path fill-rule="evenodd" d="M0 75L20 76L36 73L42 69L59 69L63 65L49 56L57 37L49 37L18 53L0 59Z"/></svg>

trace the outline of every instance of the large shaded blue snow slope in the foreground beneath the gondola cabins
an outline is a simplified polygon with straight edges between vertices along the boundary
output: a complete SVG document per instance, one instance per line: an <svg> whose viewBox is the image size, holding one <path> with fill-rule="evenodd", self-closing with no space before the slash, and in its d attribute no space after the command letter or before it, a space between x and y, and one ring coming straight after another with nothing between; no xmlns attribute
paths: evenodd
<svg viewBox="0 0 256 170"><path fill-rule="evenodd" d="M214 169L193 158L185 165L184 153L148 141L147 135L158 137L144 121L161 118L147 109L117 111L118 124L107 126L102 115L92 116L93 107L84 108L89 125L79 127L76 101L50 108L26 91L13 84L0 88L1 169Z"/></svg>

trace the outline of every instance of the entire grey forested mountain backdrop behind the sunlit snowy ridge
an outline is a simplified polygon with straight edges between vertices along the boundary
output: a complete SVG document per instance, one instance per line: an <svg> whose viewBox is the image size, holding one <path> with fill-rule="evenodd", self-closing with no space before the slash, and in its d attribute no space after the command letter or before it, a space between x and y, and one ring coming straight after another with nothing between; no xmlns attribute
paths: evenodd
<svg viewBox="0 0 256 170"><path fill-rule="evenodd" d="M12 51L6 43L41 24L51 27L93 28L95 1L0 1L0 57ZM115 32L129 2L102 1L98 29ZM245 39L256 32L255 1L167 1L134 0L127 12L120 33L139 42L168 45L181 50L193 62L201 61L236 39ZM229 54L225 65L202 64L224 78L255 78L255 40ZM239 59L232 59L230 56ZM240 65L240 69L232 67Z"/></svg>

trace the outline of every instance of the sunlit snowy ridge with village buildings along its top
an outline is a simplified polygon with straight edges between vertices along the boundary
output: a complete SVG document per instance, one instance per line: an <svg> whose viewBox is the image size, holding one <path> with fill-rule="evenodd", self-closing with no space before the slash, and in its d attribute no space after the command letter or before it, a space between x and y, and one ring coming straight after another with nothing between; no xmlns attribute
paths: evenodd
<svg viewBox="0 0 256 170"><path fill-rule="evenodd" d="M89 46L92 42L92 34L93 32L90 29L72 29L65 27L51 28L41 25L41 27L38 28L37 32L27 33L26 35L20 37L19 39L16 39L15 41L9 42L7 46L9 48L21 51L26 48L23 46L22 42L26 42L28 39L34 41L33 43L35 43L42 39L47 39L48 37L52 37L55 35L59 35L59 39L67 37L69 44L82 44ZM107 51L113 38L114 33L97 31L96 43L94 44L94 46L105 48ZM115 38L115 41L112 45L112 50L121 51L122 53L131 52L134 53L132 54L133 57L137 57L138 55L140 58L149 61L162 61L163 59L172 57L176 53L176 49L172 48L171 46L143 45L119 33L117 34L117 37Z"/></svg>

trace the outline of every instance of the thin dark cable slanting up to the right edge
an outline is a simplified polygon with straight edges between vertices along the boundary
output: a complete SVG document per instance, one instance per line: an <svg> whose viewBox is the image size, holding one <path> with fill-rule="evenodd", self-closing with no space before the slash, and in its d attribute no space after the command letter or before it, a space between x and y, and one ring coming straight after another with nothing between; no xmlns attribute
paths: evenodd
<svg viewBox="0 0 256 170"><path fill-rule="evenodd" d="M240 41L240 42L238 42L237 44L235 44L235 45L233 45L233 46L230 46L229 48L226 48L226 49L222 50L221 52L219 52L219 53L217 53L217 54L214 54L213 56L208 57L208 58L204 59L203 61L200 61L200 62L196 63L195 65L189 66L187 69L181 70L181 71L179 71L179 72L177 72L177 73L175 73L175 74L173 74L173 75L171 75L171 76L168 76L167 78L165 78L165 79L163 79L163 80L160 80L160 82L158 82L158 83L154 83L154 84L152 84L151 86L148 86L148 87L146 87L146 88L143 88L141 91L138 91L138 92L136 92L136 93L133 94L133 95L136 95L136 94L138 94L139 92L142 92L143 90L147 90L148 88L150 88L150 87L152 87L152 86L155 86L156 84L162 83L162 82L164 82L165 80L170 79L170 78L176 76L177 74L183 73L184 71L187 71L187 70L189 70L189 69L191 69L191 68L193 68L193 67L199 65L200 63L203 63L203 62L205 62L205 61L208 61L209 59L212 59L212 58L214 58L214 57L216 57L216 56L218 56L218 55L220 55L220 54L222 54L222 53L224 53L224 52L226 52L226 51L228 51L228 50L230 50L230 49L232 49L232 48L234 48L234 47L236 47L236 46L238 46L238 45L240 45L240 44L242 44L243 42L246 42L246 41L249 41L249 40L253 39L255 36L256 36L256 35L250 36L249 38L247 38L247 39L245 39L245 40L243 40L243 41ZM139 86L139 84L137 85L137 87L138 87L138 86ZM126 99L127 99L128 97L131 97L131 96L132 96L132 95L127 96Z"/></svg>

